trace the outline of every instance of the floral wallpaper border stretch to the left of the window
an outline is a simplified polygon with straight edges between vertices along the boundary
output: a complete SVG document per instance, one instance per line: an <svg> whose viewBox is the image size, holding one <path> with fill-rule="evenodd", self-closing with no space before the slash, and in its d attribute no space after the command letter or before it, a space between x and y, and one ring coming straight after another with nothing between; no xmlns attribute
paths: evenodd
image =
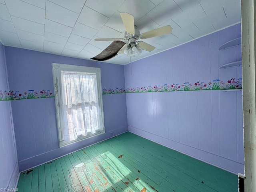
<svg viewBox="0 0 256 192"><path fill-rule="evenodd" d="M2 91L0 90L0 101L11 101L11 100L21 100L21 99L38 99L38 98L51 98L54 97L53 92L50 90L28 90L25 92L19 91Z"/></svg>

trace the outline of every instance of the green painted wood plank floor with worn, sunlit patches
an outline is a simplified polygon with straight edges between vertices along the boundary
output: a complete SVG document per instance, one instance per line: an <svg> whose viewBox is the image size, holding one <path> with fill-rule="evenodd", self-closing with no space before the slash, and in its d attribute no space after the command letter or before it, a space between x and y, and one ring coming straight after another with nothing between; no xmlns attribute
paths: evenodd
<svg viewBox="0 0 256 192"><path fill-rule="evenodd" d="M237 176L130 132L20 174L19 192L237 192Z"/></svg>

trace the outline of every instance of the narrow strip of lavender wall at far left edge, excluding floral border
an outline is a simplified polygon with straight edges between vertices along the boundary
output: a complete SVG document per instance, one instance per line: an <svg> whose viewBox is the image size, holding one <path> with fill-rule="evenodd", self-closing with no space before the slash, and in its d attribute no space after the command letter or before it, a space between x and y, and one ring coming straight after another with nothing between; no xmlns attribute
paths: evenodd
<svg viewBox="0 0 256 192"><path fill-rule="evenodd" d="M4 46L0 43L0 92L8 90ZM14 188L18 162L10 101L0 102L0 188Z"/></svg>

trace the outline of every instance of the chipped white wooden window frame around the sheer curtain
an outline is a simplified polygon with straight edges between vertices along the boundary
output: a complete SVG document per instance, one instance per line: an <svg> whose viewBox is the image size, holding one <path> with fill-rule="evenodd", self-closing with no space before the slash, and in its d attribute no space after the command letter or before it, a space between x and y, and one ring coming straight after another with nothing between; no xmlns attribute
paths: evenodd
<svg viewBox="0 0 256 192"><path fill-rule="evenodd" d="M96 81L97 81L97 91L98 91L98 102L102 113L102 123L103 130L97 131L94 134L89 134L88 136L82 136L73 141L63 141L63 131L62 127L64 127L64 110L63 110L63 101L62 101L62 85L61 85L61 71L74 71L74 72L88 72L88 73L96 73ZM103 113L103 100L102 100L102 86L101 86L101 74L100 68L96 67L86 67L86 66L76 66L76 65L67 65L67 64L59 64L52 63L52 75L54 82L54 98L56 105L56 117L57 117L57 128L58 128L58 140L59 147L63 147L81 140L85 140L90 137L97 136L99 134L105 133L104 126L104 113Z"/></svg>

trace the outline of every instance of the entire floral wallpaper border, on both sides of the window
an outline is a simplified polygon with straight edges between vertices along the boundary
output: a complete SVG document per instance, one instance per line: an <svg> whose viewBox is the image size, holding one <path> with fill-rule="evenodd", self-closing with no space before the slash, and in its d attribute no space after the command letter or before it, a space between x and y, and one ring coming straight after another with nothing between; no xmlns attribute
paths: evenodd
<svg viewBox="0 0 256 192"><path fill-rule="evenodd" d="M143 93L143 92L171 92L171 91L200 91L200 90L230 90L230 89L242 89L242 78L235 79L230 78L224 82L219 79L212 80L210 82L185 82L183 84L164 84L162 86L148 86L137 88L116 88L116 89L103 89L102 94L119 94L119 93ZM22 99L38 99L38 98L52 98L54 93L50 90L28 90L25 92L19 91L2 91L0 90L0 101L10 100L22 100Z"/></svg>

